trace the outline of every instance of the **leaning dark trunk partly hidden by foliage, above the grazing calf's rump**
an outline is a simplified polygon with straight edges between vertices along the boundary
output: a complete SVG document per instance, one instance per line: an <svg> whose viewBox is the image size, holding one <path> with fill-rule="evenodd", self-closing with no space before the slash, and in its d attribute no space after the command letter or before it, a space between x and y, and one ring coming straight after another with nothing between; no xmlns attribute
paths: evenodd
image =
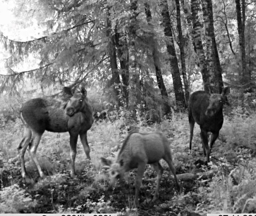
<svg viewBox="0 0 256 216"><path fill-rule="evenodd" d="M151 11L148 3L144 4L145 6L145 13L147 17L147 22L150 27L152 27L152 24L150 23L152 20ZM159 51L158 51L158 44L157 41L154 39L154 35L151 35L151 50L155 65L155 75L157 77L157 85L161 91L162 99L163 99L163 114L167 115L171 113L170 104L169 104L169 98L168 93L165 87L165 83L163 82L163 76L161 71L161 62L159 59Z"/></svg>

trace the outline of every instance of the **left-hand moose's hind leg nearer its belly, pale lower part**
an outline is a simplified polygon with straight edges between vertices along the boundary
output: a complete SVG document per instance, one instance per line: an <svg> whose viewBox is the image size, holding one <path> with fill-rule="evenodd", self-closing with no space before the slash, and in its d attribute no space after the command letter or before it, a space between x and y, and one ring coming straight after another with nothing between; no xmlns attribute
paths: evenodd
<svg viewBox="0 0 256 216"><path fill-rule="evenodd" d="M37 147L39 145L41 137L42 137L42 133L37 133L35 131L32 131L32 139L31 139L31 142L29 145L29 154L30 154L30 157L32 158L32 160L34 161L35 165L37 166L40 176L44 177L42 168L39 165L39 162L37 160Z"/></svg>

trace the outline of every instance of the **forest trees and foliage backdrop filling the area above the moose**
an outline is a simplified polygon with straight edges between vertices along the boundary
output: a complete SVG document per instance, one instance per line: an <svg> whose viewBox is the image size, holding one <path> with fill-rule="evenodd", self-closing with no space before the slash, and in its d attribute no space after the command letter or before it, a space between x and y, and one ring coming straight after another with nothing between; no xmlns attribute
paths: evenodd
<svg viewBox="0 0 256 216"><path fill-rule="evenodd" d="M27 78L43 88L100 84L130 109L150 109L161 94L168 114L170 97L186 107L195 81L217 92L223 79L255 86L254 1L15 0L8 9L1 92Z"/></svg>

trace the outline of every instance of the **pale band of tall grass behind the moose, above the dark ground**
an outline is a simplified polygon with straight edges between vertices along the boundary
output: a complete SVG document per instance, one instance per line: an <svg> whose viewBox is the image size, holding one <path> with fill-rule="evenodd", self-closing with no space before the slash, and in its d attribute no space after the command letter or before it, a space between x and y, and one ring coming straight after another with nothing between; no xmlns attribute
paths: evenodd
<svg viewBox="0 0 256 216"><path fill-rule="evenodd" d="M250 116L234 115L224 117L223 127L220 130L219 139L215 142L212 156L236 157L234 150L240 147L247 147L255 150L256 143L256 114ZM128 131L123 127L123 119L114 122L95 122L88 131L88 141L91 149L91 162L97 170L101 169L100 157L114 156L120 148ZM200 128L196 124L192 141L192 154L189 154L189 125L186 113L176 113L172 120L165 120L160 124L139 127L139 131L146 133L150 131L163 132L170 141L170 148L174 155L174 161L179 164L186 164L189 161L201 157L202 144L200 140ZM4 162L18 155L16 150L21 141L23 133L22 123L19 119L16 122L10 121L0 130L0 154ZM87 163L80 140L77 145L76 168L82 172ZM46 131L38 146L37 154L42 165L49 173L69 169L69 134L50 133ZM196 157L196 158L195 158ZM25 154L25 161L30 170L35 169L29 154ZM29 171L28 170L28 171ZM32 170L31 170L32 171Z"/></svg>

